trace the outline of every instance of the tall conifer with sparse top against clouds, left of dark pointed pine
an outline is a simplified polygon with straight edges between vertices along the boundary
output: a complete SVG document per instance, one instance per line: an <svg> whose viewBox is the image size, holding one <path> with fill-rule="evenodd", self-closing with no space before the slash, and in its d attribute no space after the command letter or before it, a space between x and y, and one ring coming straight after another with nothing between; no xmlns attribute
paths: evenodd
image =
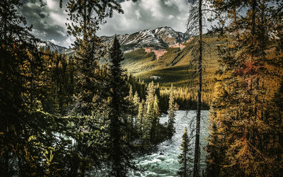
<svg viewBox="0 0 283 177"><path fill-rule="evenodd" d="M62 1L60 1L62 4ZM120 4L116 1L69 0L67 11L69 20L67 24L69 35L76 38L74 50L76 51L76 109L80 115L91 115L101 106L105 93L103 80L99 77L98 59L105 55L103 44L96 35L99 24L103 19L112 17L113 10L122 12ZM95 16L95 17L93 17Z"/></svg>

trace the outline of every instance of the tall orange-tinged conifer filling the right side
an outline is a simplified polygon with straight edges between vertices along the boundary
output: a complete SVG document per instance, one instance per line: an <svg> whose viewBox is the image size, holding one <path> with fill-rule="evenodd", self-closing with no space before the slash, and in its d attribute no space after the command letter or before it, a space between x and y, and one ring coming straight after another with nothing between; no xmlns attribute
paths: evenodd
<svg viewBox="0 0 283 177"><path fill-rule="evenodd" d="M282 115L274 113L279 110L275 97L282 95L282 2L212 3L231 23L220 18L226 43L219 46L207 174L282 176Z"/></svg>

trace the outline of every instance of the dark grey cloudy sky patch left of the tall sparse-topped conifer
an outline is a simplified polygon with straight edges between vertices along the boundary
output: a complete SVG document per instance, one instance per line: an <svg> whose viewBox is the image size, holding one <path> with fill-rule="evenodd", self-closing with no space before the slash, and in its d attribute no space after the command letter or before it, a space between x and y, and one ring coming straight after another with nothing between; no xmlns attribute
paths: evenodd
<svg viewBox="0 0 283 177"><path fill-rule="evenodd" d="M57 0L22 0L19 11L33 25L33 34L42 40L68 47L71 39L67 36L67 13L59 8Z"/></svg>

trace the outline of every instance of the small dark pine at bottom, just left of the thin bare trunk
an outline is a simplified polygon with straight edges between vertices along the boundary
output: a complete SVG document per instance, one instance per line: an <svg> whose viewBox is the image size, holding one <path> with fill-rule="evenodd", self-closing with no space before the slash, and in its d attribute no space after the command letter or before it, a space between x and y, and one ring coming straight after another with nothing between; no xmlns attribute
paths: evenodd
<svg viewBox="0 0 283 177"><path fill-rule="evenodd" d="M183 136L182 136L182 144L180 147L180 150L182 151L181 154L178 156L180 169L178 171L178 174L180 176L186 177L190 176L190 164L192 163L192 148L190 144L190 139L187 136L187 127L185 127Z"/></svg>

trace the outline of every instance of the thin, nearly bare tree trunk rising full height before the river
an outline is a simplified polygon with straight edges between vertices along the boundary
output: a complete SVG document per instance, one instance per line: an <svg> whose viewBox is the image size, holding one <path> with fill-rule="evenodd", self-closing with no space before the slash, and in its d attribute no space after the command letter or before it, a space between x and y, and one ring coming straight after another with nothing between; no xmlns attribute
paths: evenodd
<svg viewBox="0 0 283 177"><path fill-rule="evenodd" d="M197 124L195 129L195 161L193 176L200 176L200 110L202 106L202 0L199 0L199 90L197 92Z"/></svg>

